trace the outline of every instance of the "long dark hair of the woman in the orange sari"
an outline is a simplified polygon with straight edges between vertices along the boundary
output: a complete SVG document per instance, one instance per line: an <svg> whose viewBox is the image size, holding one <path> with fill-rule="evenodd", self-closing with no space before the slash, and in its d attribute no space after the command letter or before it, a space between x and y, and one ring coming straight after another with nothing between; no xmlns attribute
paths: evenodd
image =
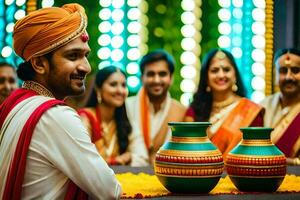
<svg viewBox="0 0 300 200"><path fill-rule="evenodd" d="M246 96L246 90L232 54L224 49L212 49L203 58L198 89L197 92L194 94L193 101L191 103L191 107L195 111L196 115L195 121L208 121L212 110L212 93L206 91L208 82L208 68L210 66L212 58L216 55L218 51L222 51L225 53L226 57L230 60L230 63L234 68L236 76L236 85L238 87L238 90L235 93L241 97Z"/></svg>

